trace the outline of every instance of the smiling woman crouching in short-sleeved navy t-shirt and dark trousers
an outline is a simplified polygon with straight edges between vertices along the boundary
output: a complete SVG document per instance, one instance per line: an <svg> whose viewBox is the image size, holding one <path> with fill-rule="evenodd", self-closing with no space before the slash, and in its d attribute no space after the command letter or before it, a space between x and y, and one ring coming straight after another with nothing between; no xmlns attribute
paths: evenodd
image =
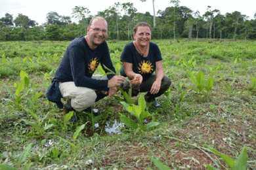
<svg viewBox="0 0 256 170"><path fill-rule="evenodd" d="M155 107L161 107L155 98L163 94L169 86L171 79L163 75L161 52L158 45L151 41L151 27L146 22L139 22L133 29L135 41L125 45L121 54L123 66L120 73L127 76L133 84L133 96L139 92L146 93L145 100L154 102ZM156 71L156 74L153 74ZM125 81L121 88L129 90L129 82Z"/></svg>

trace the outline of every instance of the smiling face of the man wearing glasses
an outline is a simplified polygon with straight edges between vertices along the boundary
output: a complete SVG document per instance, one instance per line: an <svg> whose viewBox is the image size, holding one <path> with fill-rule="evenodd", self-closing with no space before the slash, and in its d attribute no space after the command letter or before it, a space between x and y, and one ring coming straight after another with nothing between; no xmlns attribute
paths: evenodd
<svg viewBox="0 0 256 170"><path fill-rule="evenodd" d="M108 25L103 19L95 19L87 28L87 35L94 46L102 44L108 35Z"/></svg>

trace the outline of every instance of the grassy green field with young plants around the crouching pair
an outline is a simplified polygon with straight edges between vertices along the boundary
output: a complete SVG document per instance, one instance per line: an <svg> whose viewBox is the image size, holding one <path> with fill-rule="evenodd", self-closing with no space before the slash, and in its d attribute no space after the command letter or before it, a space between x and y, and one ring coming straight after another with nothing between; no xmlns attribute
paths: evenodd
<svg viewBox="0 0 256 170"><path fill-rule="evenodd" d="M127 42L108 42L114 65ZM160 125L146 131L121 124L120 92L75 124L47 101L68 41L0 42L0 169L230 169L210 148L237 160L243 147L256 169L256 41L153 42L172 84L161 108L148 106Z"/></svg>

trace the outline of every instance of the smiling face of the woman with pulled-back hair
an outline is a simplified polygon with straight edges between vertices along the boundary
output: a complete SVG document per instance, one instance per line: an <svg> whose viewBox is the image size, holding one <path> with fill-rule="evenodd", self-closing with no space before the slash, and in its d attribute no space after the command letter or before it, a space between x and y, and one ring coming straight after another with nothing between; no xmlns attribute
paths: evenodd
<svg viewBox="0 0 256 170"><path fill-rule="evenodd" d="M139 26L137 33L133 33L133 38L140 46L147 46L151 41L150 27Z"/></svg>

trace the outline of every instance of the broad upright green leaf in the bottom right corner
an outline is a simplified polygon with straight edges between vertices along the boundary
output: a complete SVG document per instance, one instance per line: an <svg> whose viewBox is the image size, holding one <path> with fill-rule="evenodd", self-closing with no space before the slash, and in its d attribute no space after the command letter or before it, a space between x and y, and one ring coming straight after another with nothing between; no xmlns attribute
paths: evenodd
<svg viewBox="0 0 256 170"><path fill-rule="evenodd" d="M247 169L247 160L248 155L246 152L246 148L242 148L240 155L238 156L237 160L234 162L234 166L232 170L246 170Z"/></svg>

